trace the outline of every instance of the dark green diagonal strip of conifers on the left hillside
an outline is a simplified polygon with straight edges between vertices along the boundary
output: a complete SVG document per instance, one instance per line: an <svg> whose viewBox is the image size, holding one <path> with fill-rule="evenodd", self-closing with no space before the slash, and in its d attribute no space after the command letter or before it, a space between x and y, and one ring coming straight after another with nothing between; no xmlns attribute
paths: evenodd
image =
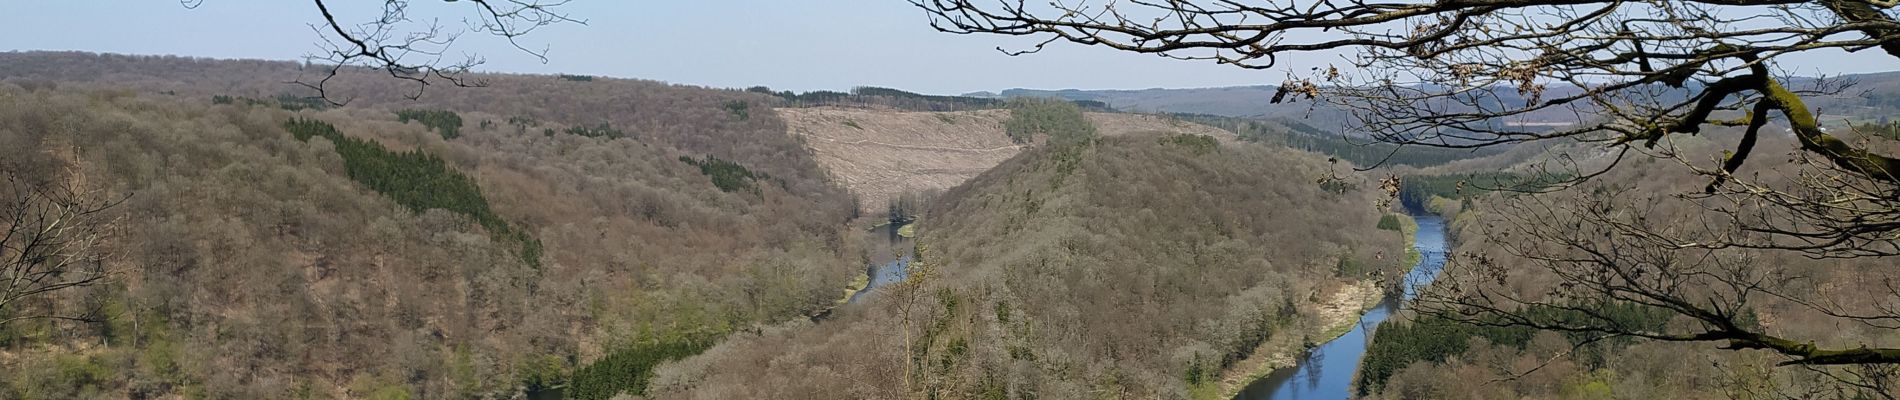
<svg viewBox="0 0 1900 400"><path fill-rule="evenodd" d="M450 112L450 116L454 114ZM460 125L462 119L454 121ZM310 142L312 136L329 138L336 146L336 154L344 157L350 180L388 195L397 205L408 207L410 212L443 209L464 214L488 229L494 239L515 243L521 248L521 262L542 265L542 241L528 235L526 229L511 227L494 214L475 178L456 173L443 157L422 150L390 152L382 144L344 136L334 125L319 119L293 118L283 123L283 129L304 142Z"/></svg>

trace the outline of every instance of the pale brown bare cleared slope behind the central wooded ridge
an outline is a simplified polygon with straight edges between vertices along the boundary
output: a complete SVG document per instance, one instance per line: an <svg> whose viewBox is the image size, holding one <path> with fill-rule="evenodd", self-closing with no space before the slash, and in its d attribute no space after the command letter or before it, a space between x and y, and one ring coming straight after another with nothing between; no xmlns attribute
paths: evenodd
<svg viewBox="0 0 1900 400"><path fill-rule="evenodd" d="M906 191L948 190L1022 152L1009 140L1009 110L899 112L870 108L779 108L790 135L802 138L832 180L859 195L859 209L880 210ZM1208 125L1142 114L1091 112L1104 136L1195 133L1237 140Z"/></svg>

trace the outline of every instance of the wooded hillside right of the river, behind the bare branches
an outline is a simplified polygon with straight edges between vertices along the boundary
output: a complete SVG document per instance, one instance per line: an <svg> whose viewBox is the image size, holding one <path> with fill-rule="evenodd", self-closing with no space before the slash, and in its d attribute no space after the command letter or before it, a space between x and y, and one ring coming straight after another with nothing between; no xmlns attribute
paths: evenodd
<svg viewBox="0 0 1900 400"><path fill-rule="evenodd" d="M1670 144L1683 159L1714 159L1737 131L1702 133ZM1794 148L1786 136L1763 136L1763 148ZM1780 155L1780 154L1776 154ZM1590 182L1548 195L1530 197L1482 188L1537 188L1548 174L1474 173L1416 176L1406 182L1406 201L1444 207L1455 214L1452 231L1461 239L1452 248L1446 275L1434 288L1503 288L1526 301L1556 301L1632 330L1693 332L1699 320L1659 313L1632 301L1566 303L1550 269L1510 248L1552 246L1539 224L1571 229L1586 212L1609 212L1626 224L1668 226L1680 235L1733 235L1725 226L1706 224L1727 207L1721 197L1695 197L1708 178L1674 169L1678 159L1636 157ZM1767 184L1805 178L1790 157L1763 157L1744 173ZM1463 182L1463 184L1459 184ZM1461 188L1461 190L1457 190ZM1448 201L1448 197L1457 201ZM1583 231L1577 235L1592 235ZM1644 254L1628 250L1628 254ZM1668 254L1670 277L1640 277L1640 282L1676 282L1668 296L1697 303L1740 303L1727 309L1746 328L1776 336L1820 337L1820 347L1892 347L1900 343L1883 324L1837 318L1834 313L1872 313L1890 307L1887 282L1890 262L1879 258L1813 260L1792 252L1723 248L1704 252L1683 248ZM1486 267L1509 267L1492 275ZM1742 279L1754 286L1712 284ZM1492 282L1495 281L1495 282ZM1796 292L1799 296L1778 296ZM1429 305L1429 303L1427 303ZM1727 305L1723 305L1727 307ZM1528 313L1564 315L1579 311L1531 309ZM1585 320L1583 317L1560 317ZM1497 320L1493 320L1497 322ZM1824 366L1778 366L1786 358L1723 349L1725 343L1668 343L1628 336L1604 337L1592 332L1539 332L1524 326L1459 324L1434 315L1410 315L1381 326L1368 349L1357 379L1370 398L1877 398L1879 389L1843 385L1839 379L1881 377L1881 366L1828 370ZM1843 372L1845 370L1845 372ZM1835 375L1835 377L1830 377Z"/></svg>

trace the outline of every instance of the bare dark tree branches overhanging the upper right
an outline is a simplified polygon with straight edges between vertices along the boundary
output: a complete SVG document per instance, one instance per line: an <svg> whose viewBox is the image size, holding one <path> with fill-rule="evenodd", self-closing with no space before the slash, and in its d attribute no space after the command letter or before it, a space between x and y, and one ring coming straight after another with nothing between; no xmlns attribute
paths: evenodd
<svg viewBox="0 0 1900 400"><path fill-rule="evenodd" d="M1881 49L1900 57L1900 23L1887 2L1858 0L1440 0L1440 2L1231 2L1231 0L912 0L939 30L1104 45L1172 59L1271 68L1282 55L1343 51L1347 66L1286 80L1275 102L1311 99L1351 112L1349 131L1400 146L1488 148L1568 140L1617 154L1655 148L1708 125L1769 129L1786 121L1799 148L1826 159L1852 186L1900 184L1900 159L1820 129L1803 97L1834 95L1828 80L1775 76L1775 61L1816 51ZM1723 119L1744 114L1746 119ZM1552 127L1556 125L1556 127ZM1704 191L1718 191L1756 152L1742 140ZM1569 188L1598 176L1568 165ZM1708 171L1708 169L1704 169ZM1776 203L1820 205L1830 186L1784 190ZM1727 191L1744 195L1750 191ZM1858 193L1858 191L1856 191ZM1786 212L1822 218L1758 233L1801 241L1816 256L1879 256L1900 224L1866 210L1900 207L1900 195L1864 207ZM1799 195L1799 197L1794 197ZM1860 197L1856 197L1860 199ZM1689 245L1689 243L1678 243ZM1763 246L1763 243L1697 243Z"/></svg>

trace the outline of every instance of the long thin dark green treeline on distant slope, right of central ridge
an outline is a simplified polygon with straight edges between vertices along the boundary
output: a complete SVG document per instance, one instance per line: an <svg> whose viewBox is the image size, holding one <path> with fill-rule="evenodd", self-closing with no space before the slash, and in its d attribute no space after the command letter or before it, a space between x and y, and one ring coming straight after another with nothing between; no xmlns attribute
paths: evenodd
<svg viewBox="0 0 1900 400"><path fill-rule="evenodd" d="M1226 118L1208 114L1170 114L1170 116L1182 121L1193 121L1226 129L1233 135L1239 135L1243 140L1279 144L1305 152L1324 154L1330 157L1345 159L1360 167L1372 167L1372 165L1433 167L1459 159L1497 155L1505 152L1505 148L1495 148L1495 146L1478 150L1459 150L1459 148L1429 148L1429 146L1396 146L1389 142L1378 142L1372 138L1345 138L1340 133L1328 133L1324 129L1317 129L1313 125L1288 118L1248 119L1248 118Z"/></svg>

